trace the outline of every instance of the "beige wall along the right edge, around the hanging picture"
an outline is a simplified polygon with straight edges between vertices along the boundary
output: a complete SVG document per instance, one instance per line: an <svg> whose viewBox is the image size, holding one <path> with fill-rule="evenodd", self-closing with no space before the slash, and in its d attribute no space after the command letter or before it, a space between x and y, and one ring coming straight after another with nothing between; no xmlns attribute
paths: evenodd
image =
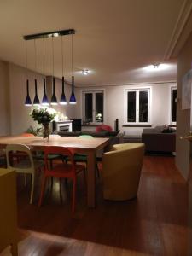
<svg viewBox="0 0 192 256"><path fill-rule="evenodd" d="M190 110L182 110L182 78L189 72L192 64L192 33L183 49L178 55L177 66L177 142L176 142L176 164L183 177L189 175L189 142L180 140L179 137L189 134Z"/></svg>

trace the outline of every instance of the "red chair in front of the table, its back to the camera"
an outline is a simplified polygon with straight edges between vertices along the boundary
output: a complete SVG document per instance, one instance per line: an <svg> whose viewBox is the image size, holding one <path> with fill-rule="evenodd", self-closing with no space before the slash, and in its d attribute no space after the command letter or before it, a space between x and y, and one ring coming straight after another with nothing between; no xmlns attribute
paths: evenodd
<svg viewBox="0 0 192 256"><path fill-rule="evenodd" d="M70 164L68 163L59 163L55 164L52 168L49 167L49 154L61 154L63 156L67 156L70 160ZM44 188L46 184L47 177L64 177L70 178L73 180L73 202L72 202L72 211L75 210L75 195L76 195L76 184L77 184L77 174L79 172L84 172L84 180L85 180L85 168L82 165L77 165L73 159L73 152L69 148L64 147L56 147L50 146L45 148L44 150L44 177L41 185L41 194L38 201L38 206L40 207L42 204L43 196L44 196ZM61 182L60 182L60 192L61 192Z"/></svg>

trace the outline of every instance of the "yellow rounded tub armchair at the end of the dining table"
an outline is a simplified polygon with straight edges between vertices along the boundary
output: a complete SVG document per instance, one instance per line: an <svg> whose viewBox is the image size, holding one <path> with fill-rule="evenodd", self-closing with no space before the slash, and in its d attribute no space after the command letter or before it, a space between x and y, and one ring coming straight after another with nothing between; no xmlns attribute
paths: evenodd
<svg viewBox="0 0 192 256"><path fill-rule="evenodd" d="M143 166L144 144L113 145L103 154L103 195L107 200L129 200L137 196Z"/></svg>

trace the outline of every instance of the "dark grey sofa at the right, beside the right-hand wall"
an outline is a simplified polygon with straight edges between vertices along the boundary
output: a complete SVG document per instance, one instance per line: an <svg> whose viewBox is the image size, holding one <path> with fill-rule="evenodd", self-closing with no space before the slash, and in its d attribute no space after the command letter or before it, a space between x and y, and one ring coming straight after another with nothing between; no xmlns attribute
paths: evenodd
<svg viewBox="0 0 192 256"><path fill-rule="evenodd" d="M165 125L143 129L142 142L146 151L172 153L176 151L176 132Z"/></svg>

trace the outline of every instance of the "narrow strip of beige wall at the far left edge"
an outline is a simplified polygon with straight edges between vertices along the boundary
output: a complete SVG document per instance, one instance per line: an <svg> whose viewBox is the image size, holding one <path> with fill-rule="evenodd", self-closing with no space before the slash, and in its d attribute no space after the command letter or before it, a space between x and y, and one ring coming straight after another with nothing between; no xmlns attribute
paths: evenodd
<svg viewBox="0 0 192 256"><path fill-rule="evenodd" d="M9 135L9 65L0 61L0 136Z"/></svg>

